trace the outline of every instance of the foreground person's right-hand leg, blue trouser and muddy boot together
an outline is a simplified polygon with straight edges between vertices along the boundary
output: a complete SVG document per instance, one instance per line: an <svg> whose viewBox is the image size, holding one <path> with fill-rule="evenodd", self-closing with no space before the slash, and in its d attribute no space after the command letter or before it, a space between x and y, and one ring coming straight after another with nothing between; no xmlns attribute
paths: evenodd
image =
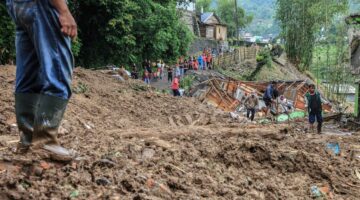
<svg viewBox="0 0 360 200"><path fill-rule="evenodd" d="M41 73L37 75L42 87L33 142L57 156L66 156L69 152L58 145L57 133L71 97L74 67L71 40L61 32L58 13L50 1L34 2L37 5L36 22L29 32L40 63Z"/></svg>

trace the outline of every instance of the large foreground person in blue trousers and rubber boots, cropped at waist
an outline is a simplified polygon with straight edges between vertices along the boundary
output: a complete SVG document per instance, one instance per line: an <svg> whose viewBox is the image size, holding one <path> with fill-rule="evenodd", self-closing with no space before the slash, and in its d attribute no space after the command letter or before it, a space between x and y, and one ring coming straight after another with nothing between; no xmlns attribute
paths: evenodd
<svg viewBox="0 0 360 200"><path fill-rule="evenodd" d="M57 135L71 97L76 22L65 0L7 0L6 5L16 24L16 152L33 146L72 159Z"/></svg>

